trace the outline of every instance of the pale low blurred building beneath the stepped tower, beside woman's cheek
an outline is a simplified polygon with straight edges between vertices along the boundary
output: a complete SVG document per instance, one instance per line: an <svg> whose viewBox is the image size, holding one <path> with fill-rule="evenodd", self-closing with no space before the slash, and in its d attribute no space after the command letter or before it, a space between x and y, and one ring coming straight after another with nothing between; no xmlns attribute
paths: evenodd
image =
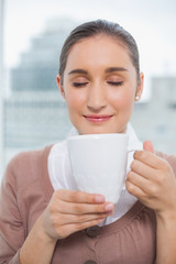
<svg viewBox="0 0 176 264"><path fill-rule="evenodd" d="M4 102L6 148L35 148L63 140L70 129L59 91L14 92Z"/></svg>

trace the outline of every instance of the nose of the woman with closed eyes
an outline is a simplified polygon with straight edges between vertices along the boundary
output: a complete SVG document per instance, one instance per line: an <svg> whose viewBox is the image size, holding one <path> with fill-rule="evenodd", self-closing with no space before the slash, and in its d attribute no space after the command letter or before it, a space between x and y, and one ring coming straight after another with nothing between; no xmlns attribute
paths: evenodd
<svg viewBox="0 0 176 264"><path fill-rule="evenodd" d="M89 89L87 107L91 111L100 111L107 106L106 90L103 85L95 84Z"/></svg>

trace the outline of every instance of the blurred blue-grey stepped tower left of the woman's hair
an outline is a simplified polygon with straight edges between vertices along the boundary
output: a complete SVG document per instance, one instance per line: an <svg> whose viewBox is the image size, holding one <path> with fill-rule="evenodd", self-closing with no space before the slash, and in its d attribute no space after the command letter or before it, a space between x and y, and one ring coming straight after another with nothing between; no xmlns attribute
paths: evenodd
<svg viewBox="0 0 176 264"><path fill-rule="evenodd" d="M19 66L11 70L12 91L56 89L61 50L74 25L70 20L53 20L41 35L32 38L30 51L21 54Z"/></svg>

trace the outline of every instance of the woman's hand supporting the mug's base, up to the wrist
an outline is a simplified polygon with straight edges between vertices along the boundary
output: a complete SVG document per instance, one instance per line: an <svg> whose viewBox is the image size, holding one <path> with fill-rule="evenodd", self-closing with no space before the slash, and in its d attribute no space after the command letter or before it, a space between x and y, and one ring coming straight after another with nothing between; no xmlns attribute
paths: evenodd
<svg viewBox="0 0 176 264"><path fill-rule="evenodd" d="M52 240L61 240L79 230L102 222L113 213L114 206L102 195L56 190L41 216L44 233Z"/></svg>

